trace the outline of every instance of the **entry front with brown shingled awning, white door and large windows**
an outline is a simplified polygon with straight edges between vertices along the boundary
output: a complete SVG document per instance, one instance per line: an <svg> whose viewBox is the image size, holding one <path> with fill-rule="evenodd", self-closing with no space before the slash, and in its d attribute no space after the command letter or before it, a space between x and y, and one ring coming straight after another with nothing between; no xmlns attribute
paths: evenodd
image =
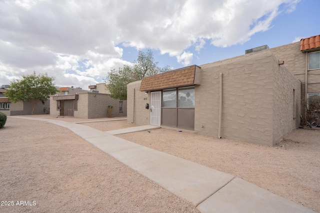
<svg viewBox="0 0 320 213"><path fill-rule="evenodd" d="M192 65L143 78L140 91L150 93L150 124L194 130L194 86L200 67Z"/></svg>

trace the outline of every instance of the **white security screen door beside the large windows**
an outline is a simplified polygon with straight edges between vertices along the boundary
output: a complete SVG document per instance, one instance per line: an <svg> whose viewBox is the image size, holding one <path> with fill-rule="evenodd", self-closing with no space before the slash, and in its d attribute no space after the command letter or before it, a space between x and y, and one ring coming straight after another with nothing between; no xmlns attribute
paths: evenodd
<svg viewBox="0 0 320 213"><path fill-rule="evenodd" d="M160 126L161 91L150 93L150 124Z"/></svg>

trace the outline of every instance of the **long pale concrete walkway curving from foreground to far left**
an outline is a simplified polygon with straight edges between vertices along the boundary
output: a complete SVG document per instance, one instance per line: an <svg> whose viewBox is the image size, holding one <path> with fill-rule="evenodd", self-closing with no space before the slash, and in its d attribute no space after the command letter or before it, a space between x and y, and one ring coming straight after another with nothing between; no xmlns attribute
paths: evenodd
<svg viewBox="0 0 320 213"><path fill-rule="evenodd" d="M119 162L191 202L201 213L314 213L240 178L88 126L21 116L12 118L47 121L70 129ZM141 128L150 129L150 126ZM118 130L116 134L121 131L126 133L128 130Z"/></svg>

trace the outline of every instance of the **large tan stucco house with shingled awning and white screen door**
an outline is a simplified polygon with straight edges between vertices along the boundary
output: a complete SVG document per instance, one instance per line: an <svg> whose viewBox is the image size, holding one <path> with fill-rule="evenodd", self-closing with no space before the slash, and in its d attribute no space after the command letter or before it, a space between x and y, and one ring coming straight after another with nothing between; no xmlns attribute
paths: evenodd
<svg viewBox="0 0 320 213"><path fill-rule="evenodd" d="M320 92L319 38L132 82L127 122L273 146L298 128L301 97Z"/></svg>

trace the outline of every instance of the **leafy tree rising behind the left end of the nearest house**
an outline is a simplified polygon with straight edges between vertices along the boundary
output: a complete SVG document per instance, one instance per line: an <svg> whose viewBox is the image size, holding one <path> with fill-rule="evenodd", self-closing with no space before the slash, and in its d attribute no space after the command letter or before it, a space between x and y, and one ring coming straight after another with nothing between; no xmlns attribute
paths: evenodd
<svg viewBox="0 0 320 213"><path fill-rule="evenodd" d="M126 85L128 83L169 70L169 66L158 67L158 62L154 61L151 50L147 50L147 52L139 50L137 61L134 61L132 66L124 65L118 70L110 70L106 78L106 87L111 98L126 100Z"/></svg>

